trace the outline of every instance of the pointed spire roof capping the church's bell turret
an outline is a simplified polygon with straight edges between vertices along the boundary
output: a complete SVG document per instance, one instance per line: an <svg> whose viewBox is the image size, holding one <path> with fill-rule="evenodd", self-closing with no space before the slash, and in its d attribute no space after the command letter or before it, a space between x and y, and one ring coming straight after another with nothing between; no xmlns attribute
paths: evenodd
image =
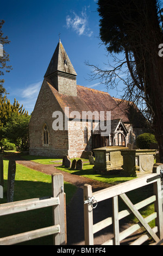
<svg viewBox="0 0 163 256"><path fill-rule="evenodd" d="M70 59L68 58L68 55L61 41L59 41L55 49L51 62L49 63L48 69L46 71L45 77L52 75L56 71L67 72L68 74L77 76L77 73L74 70Z"/></svg>

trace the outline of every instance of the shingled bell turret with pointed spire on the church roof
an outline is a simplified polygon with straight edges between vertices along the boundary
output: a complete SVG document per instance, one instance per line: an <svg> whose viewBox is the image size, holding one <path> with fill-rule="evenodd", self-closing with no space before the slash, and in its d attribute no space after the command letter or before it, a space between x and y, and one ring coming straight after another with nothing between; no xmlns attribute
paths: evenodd
<svg viewBox="0 0 163 256"><path fill-rule="evenodd" d="M60 94L77 96L77 73L60 40L44 77L53 82Z"/></svg>

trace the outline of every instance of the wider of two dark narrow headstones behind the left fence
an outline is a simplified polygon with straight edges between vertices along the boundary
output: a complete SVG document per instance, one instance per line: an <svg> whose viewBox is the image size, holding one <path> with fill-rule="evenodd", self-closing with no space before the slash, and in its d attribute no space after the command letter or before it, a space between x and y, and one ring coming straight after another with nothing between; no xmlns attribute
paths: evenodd
<svg viewBox="0 0 163 256"><path fill-rule="evenodd" d="M14 200L15 173L16 173L16 162L13 160L10 160L9 167L8 167L8 193L7 193L8 203L13 202Z"/></svg>

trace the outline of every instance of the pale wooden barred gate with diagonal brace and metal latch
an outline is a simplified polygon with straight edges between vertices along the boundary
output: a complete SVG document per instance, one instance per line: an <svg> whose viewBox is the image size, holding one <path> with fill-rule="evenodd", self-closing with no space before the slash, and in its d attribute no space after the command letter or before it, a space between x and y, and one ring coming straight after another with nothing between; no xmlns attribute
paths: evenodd
<svg viewBox="0 0 163 256"><path fill-rule="evenodd" d="M163 214L162 214L162 191L161 176L163 172L163 164L155 164L153 173L143 175L131 181L124 182L123 184L105 188L104 190L92 193L90 185L84 186L84 229L85 229L85 245L93 245L93 234L99 230L113 224L114 226L114 239L104 242L102 245L120 245L120 242L128 236L139 230L142 226L147 230L147 234L142 235L139 239L130 243L130 245L141 245L146 242L149 237L152 237L155 244L158 244L163 239ZM126 193L136 190L137 188L153 184L154 194L152 197L143 200L143 202L134 205L127 197ZM127 210L118 212L118 197L128 206ZM93 207L105 199L112 198L112 217L93 224ZM154 203L155 211L152 215L143 218L139 209L144 206ZM98 205L97 205L98 207ZM139 220L139 223L134 224L128 229L120 233L119 221L133 213ZM152 229L149 222L155 219L155 227Z"/></svg>

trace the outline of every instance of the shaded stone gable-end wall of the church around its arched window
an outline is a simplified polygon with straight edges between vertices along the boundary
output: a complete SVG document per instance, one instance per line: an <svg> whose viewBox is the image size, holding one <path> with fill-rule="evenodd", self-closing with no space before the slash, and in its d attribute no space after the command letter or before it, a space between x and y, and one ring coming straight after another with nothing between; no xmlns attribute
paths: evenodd
<svg viewBox="0 0 163 256"><path fill-rule="evenodd" d="M68 154L68 131L54 131L54 111L61 111L59 103L43 81L34 112L29 124L29 154L49 157L63 157ZM48 128L48 145L44 144L43 127Z"/></svg>

